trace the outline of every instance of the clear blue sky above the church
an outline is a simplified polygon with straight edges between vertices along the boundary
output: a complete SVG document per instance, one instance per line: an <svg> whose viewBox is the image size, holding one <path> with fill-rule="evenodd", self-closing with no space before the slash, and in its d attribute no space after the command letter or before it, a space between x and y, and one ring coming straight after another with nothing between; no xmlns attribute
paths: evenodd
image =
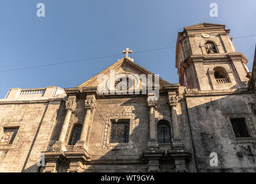
<svg viewBox="0 0 256 184"><path fill-rule="evenodd" d="M37 3L46 6L46 17L37 17ZM218 17L210 17L210 3ZM231 37L256 34L256 2L165 0L1 0L0 71L118 55L176 45L184 26L209 22L225 24ZM256 36L234 39L238 52L252 68ZM250 48L250 49L249 49ZM249 50L248 50L249 49ZM123 56L0 72L0 98L13 87L76 87ZM178 83L175 48L134 53L134 61Z"/></svg>

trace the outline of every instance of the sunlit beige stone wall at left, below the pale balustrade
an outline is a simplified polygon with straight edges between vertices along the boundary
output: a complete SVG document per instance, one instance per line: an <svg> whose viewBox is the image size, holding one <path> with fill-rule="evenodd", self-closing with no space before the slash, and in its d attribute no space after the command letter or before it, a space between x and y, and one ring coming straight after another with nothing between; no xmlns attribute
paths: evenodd
<svg viewBox="0 0 256 184"><path fill-rule="evenodd" d="M0 105L0 127L18 127L13 145L0 145L0 172L37 172L46 151L61 101Z"/></svg>

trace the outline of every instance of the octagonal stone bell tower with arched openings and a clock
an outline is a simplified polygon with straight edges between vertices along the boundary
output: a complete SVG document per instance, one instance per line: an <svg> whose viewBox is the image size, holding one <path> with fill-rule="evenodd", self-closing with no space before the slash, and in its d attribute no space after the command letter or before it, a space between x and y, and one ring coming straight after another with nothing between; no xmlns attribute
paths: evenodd
<svg viewBox="0 0 256 184"><path fill-rule="evenodd" d="M225 25L201 23L178 33L175 67L179 83L189 89L247 87L248 59L236 52Z"/></svg>

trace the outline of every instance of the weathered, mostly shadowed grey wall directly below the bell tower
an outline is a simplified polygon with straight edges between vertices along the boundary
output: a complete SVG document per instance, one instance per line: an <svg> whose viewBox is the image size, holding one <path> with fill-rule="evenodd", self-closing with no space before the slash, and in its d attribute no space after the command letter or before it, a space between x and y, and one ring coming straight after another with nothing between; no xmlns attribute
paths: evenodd
<svg viewBox="0 0 256 184"><path fill-rule="evenodd" d="M256 114L249 105L254 102L255 96L246 93L246 90L244 92L239 94L233 91L225 95L210 95L210 91L208 94L204 92L204 95L195 91L187 93L198 171L256 171ZM229 117L246 117L253 139L235 139ZM211 152L218 155L217 167L209 165Z"/></svg>

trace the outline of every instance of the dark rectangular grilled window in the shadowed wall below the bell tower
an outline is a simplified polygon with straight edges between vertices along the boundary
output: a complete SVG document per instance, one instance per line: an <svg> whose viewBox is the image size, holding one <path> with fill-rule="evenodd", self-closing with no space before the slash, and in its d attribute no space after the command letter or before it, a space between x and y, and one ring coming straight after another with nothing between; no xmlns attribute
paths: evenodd
<svg viewBox="0 0 256 184"><path fill-rule="evenodd" d="M251 137L245 118L230 118L236 137Z"/></svg>

